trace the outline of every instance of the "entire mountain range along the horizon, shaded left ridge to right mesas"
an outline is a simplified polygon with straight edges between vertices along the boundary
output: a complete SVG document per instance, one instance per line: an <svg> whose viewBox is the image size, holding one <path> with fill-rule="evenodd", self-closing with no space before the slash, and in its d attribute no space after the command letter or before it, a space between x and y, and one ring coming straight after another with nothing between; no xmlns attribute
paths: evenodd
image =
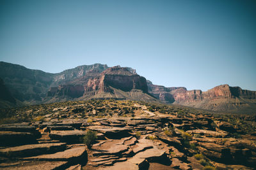
<svg viewBox="0 0 256 170"><path fill-rule="evenodd" d="M131 67L83 65L61 73L45 73L0 62L0 107L87 99L161 101L205 110L255 113L256 92L220 85L213 89L154 85Z"/></svg>

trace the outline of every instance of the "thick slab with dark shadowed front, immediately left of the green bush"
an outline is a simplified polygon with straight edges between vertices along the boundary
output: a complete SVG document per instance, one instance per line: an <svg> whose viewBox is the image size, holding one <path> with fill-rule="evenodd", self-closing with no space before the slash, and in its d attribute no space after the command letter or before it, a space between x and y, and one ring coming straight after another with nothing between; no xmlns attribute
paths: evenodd
<svg viewBox="0 0 256 170"><path fill-rule="evenodd" d="M85 131L51 131L49 134L51 139L60 140L61 142L77 143L85 135Z"/></svg>

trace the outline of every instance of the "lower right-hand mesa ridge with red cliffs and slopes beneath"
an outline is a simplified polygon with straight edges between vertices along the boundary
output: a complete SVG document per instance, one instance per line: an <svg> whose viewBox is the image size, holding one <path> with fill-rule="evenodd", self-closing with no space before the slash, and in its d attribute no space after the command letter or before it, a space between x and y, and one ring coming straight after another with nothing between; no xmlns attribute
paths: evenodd
<svg viewBox="0 0 256 170"><path fill-rule="evenodd" d="M213 89L187 90L185 87L163 87L147 81L148 92L164 103L233 113L256 113L256 92L240 87L220 85Z"/></svg>

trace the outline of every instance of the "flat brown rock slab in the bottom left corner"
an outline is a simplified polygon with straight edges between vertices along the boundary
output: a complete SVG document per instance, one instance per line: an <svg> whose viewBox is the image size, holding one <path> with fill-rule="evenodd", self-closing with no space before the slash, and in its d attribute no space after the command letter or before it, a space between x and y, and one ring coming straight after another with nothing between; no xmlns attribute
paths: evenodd
<svg viewBox="0 0 256 170"><path fill-rule="evenodd" d="M1 167L1 170L9 170L9 169L15 169L15 170L24 170L24 169L37 169L37 170L45 170L45 169L65 169L67 162L65 161L59 161L59 162L28 162L25 164L21 164L19 166L11 166L11 167Z"/></svg>

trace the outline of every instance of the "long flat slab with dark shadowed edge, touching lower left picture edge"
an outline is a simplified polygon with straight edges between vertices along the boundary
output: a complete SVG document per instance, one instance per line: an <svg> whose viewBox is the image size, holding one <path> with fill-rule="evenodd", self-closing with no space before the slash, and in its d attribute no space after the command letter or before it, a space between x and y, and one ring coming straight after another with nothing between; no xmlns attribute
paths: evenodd
<svg viewBox="0 0 256 170"><path fill-rule="evenodd" d="M44 143L23 145L0 149L0 155L4 157L26 157L62 151L65 149L65 147L66 143Z"/></svg>

